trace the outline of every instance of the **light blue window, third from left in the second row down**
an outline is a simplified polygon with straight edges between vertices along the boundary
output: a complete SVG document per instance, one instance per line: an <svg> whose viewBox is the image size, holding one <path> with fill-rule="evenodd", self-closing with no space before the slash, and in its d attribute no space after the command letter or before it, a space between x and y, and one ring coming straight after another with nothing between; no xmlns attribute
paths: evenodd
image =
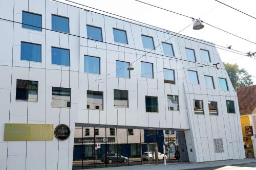
<svg viewBox="0 0 256 170"><path fill-rule="evenodd" d="M84 72L100 74L100 58L84 56Z"/></svg>

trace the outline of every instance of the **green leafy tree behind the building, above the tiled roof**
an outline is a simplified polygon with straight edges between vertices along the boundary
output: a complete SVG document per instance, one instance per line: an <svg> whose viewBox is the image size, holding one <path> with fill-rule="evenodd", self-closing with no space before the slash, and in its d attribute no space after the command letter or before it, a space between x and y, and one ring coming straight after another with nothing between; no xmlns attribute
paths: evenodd
<svg viewBox="0 0 256 170"><path fill-rule="evenodd" d="M239 69L237 64L223 63L234 89L253 85L251 76L244 68Z"/></svg>

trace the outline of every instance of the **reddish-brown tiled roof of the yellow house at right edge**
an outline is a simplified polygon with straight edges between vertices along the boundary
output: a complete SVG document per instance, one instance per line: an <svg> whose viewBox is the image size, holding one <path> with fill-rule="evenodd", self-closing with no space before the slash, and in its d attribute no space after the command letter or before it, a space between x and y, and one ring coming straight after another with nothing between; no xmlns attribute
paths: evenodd
<svg viewBox="0 0 256 170"><path fill-rule="evenodd" d="M240 114L251 114L256 107L256 85L239 88L236 91Z"/></svg>

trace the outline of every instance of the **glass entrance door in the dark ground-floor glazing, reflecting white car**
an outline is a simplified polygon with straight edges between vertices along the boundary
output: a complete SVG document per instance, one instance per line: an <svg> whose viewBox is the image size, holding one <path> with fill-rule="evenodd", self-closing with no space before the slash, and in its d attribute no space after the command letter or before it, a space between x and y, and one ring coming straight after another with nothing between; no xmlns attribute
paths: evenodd
<svg viewBox="0 0 256 170"><path fill-rule="evenodd" d="M158 164L157 143L141 143L142 164Z"/></svg>

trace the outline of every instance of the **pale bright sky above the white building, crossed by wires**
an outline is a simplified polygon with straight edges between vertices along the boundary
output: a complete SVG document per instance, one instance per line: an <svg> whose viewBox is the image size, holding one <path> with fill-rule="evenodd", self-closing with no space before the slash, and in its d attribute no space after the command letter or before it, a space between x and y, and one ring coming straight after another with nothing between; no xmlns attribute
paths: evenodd
<svg viewBox="0 0 256 170"><path fill-rule="evenodd" d="M65 0L58 0L67 4L74 5ZM151 7L135 0L71 0L86 6L97 8L103 11L111 12L123 17L138 20L149 25L160 27L169 31L179 32L187 27L192 20L184 16L173 14L155 7ZM203 21L236 34L240 37L256 42L256 19L224 6L215 0L140 0L148 4L162 7L194 18L200 18ZM255 0L219 0L227 5L237 8L249 15L256 17ZM81 8L79 5L75 5ZM89 9L91 11L95 11ZM96 11L99 12L99 11ZM102 12L99 12L102 13ZM108 15L108 14L107 14ZM238 37L229 35L220 30L205 25L202 30L193 30L192 26L180 32L180 34L190 37L203 39L218 45L232 45L234 50L244 53L256 52L256 44L247 42ZM245 68L251 76L256 77L256 59L246 56L226 52L217 49L223 62L237 63L239 68ZM252 78L253 84L256 84L256 78Z"/></svg>

